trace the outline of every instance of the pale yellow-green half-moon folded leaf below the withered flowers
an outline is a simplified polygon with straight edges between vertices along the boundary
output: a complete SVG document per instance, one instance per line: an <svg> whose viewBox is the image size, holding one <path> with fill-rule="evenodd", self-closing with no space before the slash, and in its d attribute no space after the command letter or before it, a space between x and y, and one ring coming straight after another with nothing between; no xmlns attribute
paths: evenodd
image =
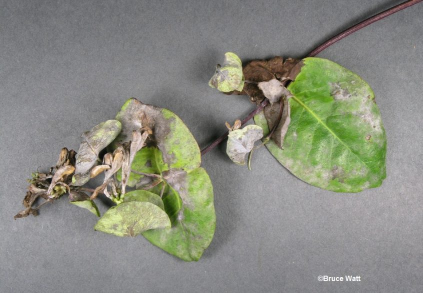
<svg viewBox="0 0 423 293"><path fill-rule="evenodd" d="M170 220L149 202L126 202L111 207L95 224L94 230L117 236L136 236L146 230L168 228Z"/></svg>

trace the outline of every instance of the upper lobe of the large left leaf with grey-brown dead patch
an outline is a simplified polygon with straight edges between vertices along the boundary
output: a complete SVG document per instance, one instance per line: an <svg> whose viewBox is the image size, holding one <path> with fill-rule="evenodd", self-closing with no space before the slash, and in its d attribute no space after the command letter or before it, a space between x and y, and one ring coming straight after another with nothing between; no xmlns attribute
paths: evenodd
<svg viewBox="0 0 423 293"><path fill-rule="evenodd" d="M188 170L199 167L198 145L182 120L171 111L131 98L117 113L116 120L121 122L122 131L114 146L129 141L133 130L147 126L153 133L149 144L158 147L168 168Z"/></svg>

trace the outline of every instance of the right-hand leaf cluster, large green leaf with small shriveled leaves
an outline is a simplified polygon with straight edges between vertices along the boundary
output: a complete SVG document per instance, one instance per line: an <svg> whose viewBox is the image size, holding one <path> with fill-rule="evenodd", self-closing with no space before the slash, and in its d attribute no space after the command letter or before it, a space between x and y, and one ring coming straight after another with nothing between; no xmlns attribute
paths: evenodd
<svg viewBox="0 0 423 293"><path fill-rule="evenodd" d="M275 117L280 108L280 122L266 147L292 174L336 192L379 186L386 177L386 136L370 86L332 61L309 57L295 66L292 60L285 61L290 62L287 72L281 57L242 68L240 59L229 52L223 65L217 66L211 87L235 93L243 89L257 103L261 101L255 100L257 92L270 100L254 116L256 125L229 131L231 160L245 163L254 142L269 134L279 120ZM257 77L253 66L263 75ZM281 69L272 72L272 67ZM287 79L293 81L284 88Z"/></svg>

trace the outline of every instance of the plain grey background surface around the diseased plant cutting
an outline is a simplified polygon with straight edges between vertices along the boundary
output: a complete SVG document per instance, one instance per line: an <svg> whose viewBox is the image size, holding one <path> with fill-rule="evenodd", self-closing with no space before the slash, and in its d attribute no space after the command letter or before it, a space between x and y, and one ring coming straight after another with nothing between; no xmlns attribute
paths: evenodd
<svg viewBox="0 0 423 293"><path fill-rule="evenodd" d="M13 220L30 173L128 97L171 109L204 147L254 107L208 87L224 52L300 57L399 2L0 1L0 292L422 292L421 3L319 55L375 92L388 139L381 187L320 190L265 149L249 172L223 144L203 157L217 227L197 263L94 232L96 218L65 198Z"/></svg>

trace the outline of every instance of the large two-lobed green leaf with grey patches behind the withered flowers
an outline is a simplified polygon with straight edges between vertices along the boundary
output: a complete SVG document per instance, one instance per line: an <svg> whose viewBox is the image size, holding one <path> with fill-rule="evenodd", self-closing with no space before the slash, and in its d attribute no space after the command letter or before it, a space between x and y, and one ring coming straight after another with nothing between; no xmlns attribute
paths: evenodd
<svg viewBox="0 0 423 293"><path fill-rule="evenodd" d="M163 182L149 191L163 191L171 228L146 231L144 237L184 261L197 261L213 238L215 214L213 188L205 170L199 168L201 157L195 139L174 113L136 99L123 105L116 120L121 122L122 131L115 146L128 141L132 131L140 127L148 126L153 133L148 145L136 153L131 169L160 176ZM127 185L148 186L155 180L131 173Z"/></svg>

